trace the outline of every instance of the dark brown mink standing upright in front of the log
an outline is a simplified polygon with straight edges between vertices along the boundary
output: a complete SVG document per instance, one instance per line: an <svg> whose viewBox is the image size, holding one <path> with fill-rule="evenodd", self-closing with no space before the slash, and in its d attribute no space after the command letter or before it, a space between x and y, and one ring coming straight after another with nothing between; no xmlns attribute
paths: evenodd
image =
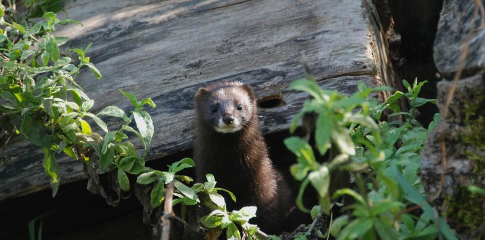
<svg viewBox="0 0 485 240"><path fill-rule="evenodd" d="M211 173L218 187L232 191L227 210L258 208L255 220L266 233L280 233L294 209L283 176L273 167L259 128L256 98L247 84L223 82L195 94L195 173Z"/></svg>

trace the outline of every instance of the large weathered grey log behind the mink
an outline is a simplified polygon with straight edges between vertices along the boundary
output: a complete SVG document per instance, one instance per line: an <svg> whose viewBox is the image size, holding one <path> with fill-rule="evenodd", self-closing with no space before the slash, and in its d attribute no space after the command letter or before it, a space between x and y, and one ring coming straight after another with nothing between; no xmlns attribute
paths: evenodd
<svg viewBox="0 0 485 240"><path fill-rule="evenodd" d="M84 69L77 79L96 102L93 112L109 105L132 110L118 88L157 105L148 109L155 127L148 159L192 147L193 96L210 82L239 80L260 99L279 96L286 104L260 109L261 127L288 129L308 98L287 89L304 76L300 52L322 87L350 94L358 81L390 84L386 42L370 0L78 0L68 12L84 26L57 35L72 38L73 47L93 42L88 55L103 74L97 81ZM110 128L121 124L103 119ZM5 153L0 200L49 188L42 151L17 138ZM84 177L81 164L56 156L61 183Z"/></svg>

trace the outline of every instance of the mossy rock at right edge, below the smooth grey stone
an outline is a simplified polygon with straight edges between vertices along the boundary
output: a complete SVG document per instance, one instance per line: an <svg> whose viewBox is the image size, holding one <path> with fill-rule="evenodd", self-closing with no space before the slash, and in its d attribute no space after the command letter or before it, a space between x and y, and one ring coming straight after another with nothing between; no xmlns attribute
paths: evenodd
<svg viewBox="0 0 485 240"><path fill-rule="evenodd" d="M441 113L452 87L438 83L437 105ZM483 239L485 196L470 193L470 184L485 186L485 80L475 75L458 81L445 119L428 135L421 151L421 182L428 197L435 196L442 173L441 143L446 146L446 168L440 198L435 203L462 239ZM444 137L444 138L442 138Z"/></svg>

